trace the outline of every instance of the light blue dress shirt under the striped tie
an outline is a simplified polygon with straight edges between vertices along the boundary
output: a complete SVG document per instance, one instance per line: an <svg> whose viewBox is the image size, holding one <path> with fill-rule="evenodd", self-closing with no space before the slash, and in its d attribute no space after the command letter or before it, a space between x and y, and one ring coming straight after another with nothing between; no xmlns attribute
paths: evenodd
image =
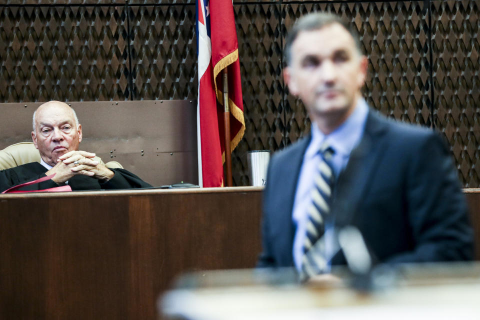
<svg viewBox="0 0 480 320"><path fill-rule="evenodd" d="M368 106L362 98L359 98L353 112L339 127L333 132L323 134L315 123L311 124L311 140L308 144L296 187L295 199L293 202L293 223L296 225L296 232L293 239L293 260L295 267L300 270L300 261L303 241L306 234L306 222L308 220L307 208L311 204L310 191L314 187L313 179L317 174L317 164L320 161L318 152L320 146L325 141L334 150L331 159L335 179L343 170L348 162L351 150L359 143L363 130L365 128ZM336 252L334 244L333 223L325 224L325 245L327 258L331 258Z"/></svg>

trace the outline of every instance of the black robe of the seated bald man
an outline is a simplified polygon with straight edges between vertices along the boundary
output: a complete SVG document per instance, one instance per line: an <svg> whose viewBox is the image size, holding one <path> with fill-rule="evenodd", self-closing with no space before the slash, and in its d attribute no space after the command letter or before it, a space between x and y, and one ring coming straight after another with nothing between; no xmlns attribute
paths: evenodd
<svg viewBox="0 0 480 320"><path fill-rule="evenodd" d="M125 169L110 169L115 175L102 183L98 179L86 175L74 175L68 180L72 190L95 190L95 189L129 189L149 187L150 184L141 180L135 174ZM35 180L39 177L45 176L48 171L43 165L38 162L30 162L22 164L10 169L0 171L0 192L8 189L11 186ZM21 188L21 190L41 190L58 186L52 180L31 184Z"/></svg>

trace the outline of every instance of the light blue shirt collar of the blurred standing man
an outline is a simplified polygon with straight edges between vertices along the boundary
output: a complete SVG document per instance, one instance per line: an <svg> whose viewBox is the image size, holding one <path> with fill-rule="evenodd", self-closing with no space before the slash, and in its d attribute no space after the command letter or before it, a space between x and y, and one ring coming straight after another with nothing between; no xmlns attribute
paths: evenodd
<svg viewBox="0 0 480 320"><path fill-rule="evenodd" d="M318 126L311 123L311 141L305 151L305 157L313 157L323 142L327 142L335 153L348 156L358 144L365 127L368 105L359 98L348 118L329 134L324 134Z"/></svg>

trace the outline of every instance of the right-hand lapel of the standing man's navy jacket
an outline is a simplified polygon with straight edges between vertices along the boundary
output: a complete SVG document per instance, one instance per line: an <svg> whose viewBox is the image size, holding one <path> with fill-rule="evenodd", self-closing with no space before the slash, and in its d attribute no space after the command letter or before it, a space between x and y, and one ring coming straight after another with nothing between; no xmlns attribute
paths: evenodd
<svg viewBox="0 0 480 320"><path fill-rule="evenodd" d="M334 191L332 213L338 226L351 223L358 202L371 182L369 177L375 163L381 158L381 150L387 143L386 139L382 138L385 130L385 120L370 109L360 143L352 150Z"/></svg>

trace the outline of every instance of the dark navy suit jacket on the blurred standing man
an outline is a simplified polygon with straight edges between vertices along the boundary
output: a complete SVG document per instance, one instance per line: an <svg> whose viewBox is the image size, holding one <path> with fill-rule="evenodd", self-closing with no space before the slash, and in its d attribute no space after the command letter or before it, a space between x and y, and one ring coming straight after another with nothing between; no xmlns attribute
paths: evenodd
<svg viewBox="0 0 480 320"><path fill-rule="evenodd" d="M258 266L293 266L292 207L309 137L275 153L263 191ZM334 186L331 213L352 224L380 262L473 258L473 231L440 136L369 110L365 131ZM344 263L337 254L333 264Z"/></svg>

